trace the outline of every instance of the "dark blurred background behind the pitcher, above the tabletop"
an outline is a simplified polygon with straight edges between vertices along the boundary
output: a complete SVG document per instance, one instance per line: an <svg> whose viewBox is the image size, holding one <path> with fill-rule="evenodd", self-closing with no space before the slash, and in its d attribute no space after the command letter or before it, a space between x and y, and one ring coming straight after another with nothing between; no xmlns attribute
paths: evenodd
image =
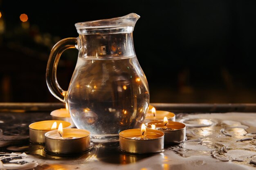
<svg viewBox="0 0 256 170"><path fill-rule="evenodd" d="M58 102L45 82L52 46L77 37L76 22L132 12L141 16L133 38L150 102L256 102L255 0L0 0L0 12L0 102ZM77 55L61 56L64 90Z"/></svg>

